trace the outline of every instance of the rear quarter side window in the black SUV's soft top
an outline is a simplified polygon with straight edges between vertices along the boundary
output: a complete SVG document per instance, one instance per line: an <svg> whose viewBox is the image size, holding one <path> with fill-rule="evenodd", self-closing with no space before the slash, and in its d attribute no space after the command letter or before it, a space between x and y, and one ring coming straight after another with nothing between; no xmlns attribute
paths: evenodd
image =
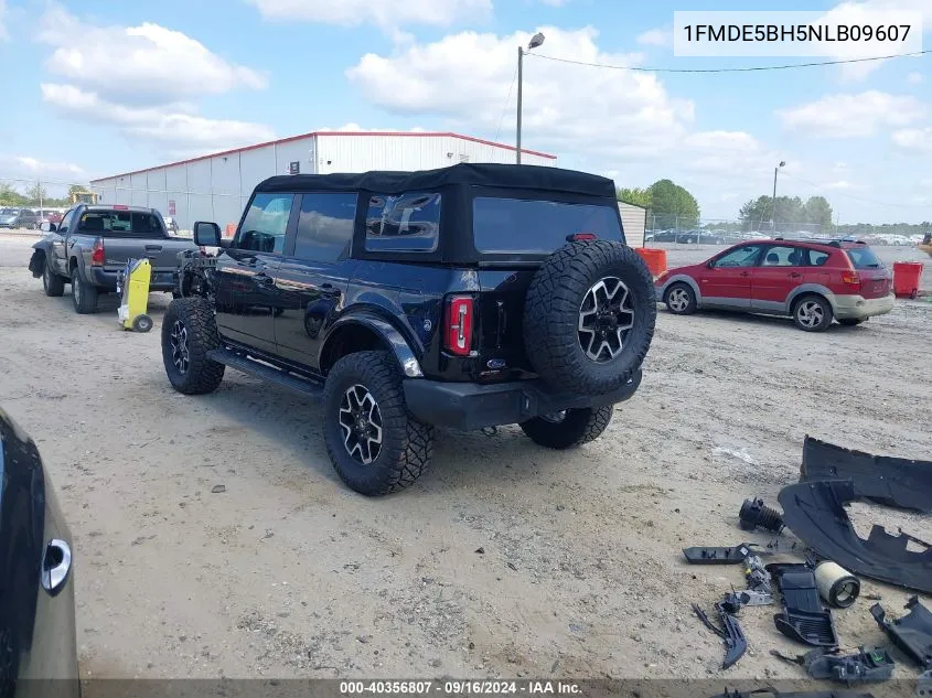
<svg viewBox="0 0 932 698"><path fill-rule="evenodd" d="M366 250L432 253L440 237L440 194L375 194L366 208Z"/></svg>

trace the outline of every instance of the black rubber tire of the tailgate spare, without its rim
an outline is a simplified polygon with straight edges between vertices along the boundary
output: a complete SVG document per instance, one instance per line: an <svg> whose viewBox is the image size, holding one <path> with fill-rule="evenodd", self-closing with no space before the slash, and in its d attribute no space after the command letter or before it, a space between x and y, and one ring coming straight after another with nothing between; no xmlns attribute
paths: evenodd
<svg viewBox="0 0 932 698"><path fill-rule="evenodd" d="M597 363L580 343L580 310L593 286L610 277L628 288L633 322L620 353ZM569 243L547 257L531 281L524 345L534 369L556 390L611 393L644 361L656 315L653 277L633 248L610 240Z"/></svg>

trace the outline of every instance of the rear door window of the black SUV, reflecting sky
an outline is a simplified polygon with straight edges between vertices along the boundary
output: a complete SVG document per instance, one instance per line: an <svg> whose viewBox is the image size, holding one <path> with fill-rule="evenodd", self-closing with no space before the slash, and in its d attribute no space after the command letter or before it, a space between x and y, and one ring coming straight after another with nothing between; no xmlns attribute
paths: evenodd
<svg viewBox="0 0 932 698"><path fill-rule="evenodd" d="M294 256L313 261L338 261L350 253L356 194L304 194L298 218Z"/></svg>

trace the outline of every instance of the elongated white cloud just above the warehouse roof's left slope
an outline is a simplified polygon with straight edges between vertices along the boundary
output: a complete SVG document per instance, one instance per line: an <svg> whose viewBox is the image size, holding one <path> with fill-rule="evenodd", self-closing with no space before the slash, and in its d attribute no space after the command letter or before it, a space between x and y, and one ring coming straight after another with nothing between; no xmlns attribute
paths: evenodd
<svg viewBox="0 0 932 698"><path fill-rule="evenodd" d="M43 100L65 116L118 128L130 137L153 141L172 151L211 151L275 138L261 124L208 119L183 103L133 107L115 104L74 85L43 83Z"/></svg>

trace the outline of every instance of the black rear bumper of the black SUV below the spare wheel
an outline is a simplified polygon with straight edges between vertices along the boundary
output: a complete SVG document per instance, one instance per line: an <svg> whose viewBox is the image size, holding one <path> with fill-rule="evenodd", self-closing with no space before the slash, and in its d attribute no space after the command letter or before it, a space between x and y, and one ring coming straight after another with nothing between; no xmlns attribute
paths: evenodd
<svg viewBox="0 0 932 698"><path fill-rule="evenodd" d="M638 390L641 377L639 368L626 385L604 395L555 395L540 379L476 385L407 378L405 400L419 421L471 430L515 425L565 409L623 402Z"/></svg>

